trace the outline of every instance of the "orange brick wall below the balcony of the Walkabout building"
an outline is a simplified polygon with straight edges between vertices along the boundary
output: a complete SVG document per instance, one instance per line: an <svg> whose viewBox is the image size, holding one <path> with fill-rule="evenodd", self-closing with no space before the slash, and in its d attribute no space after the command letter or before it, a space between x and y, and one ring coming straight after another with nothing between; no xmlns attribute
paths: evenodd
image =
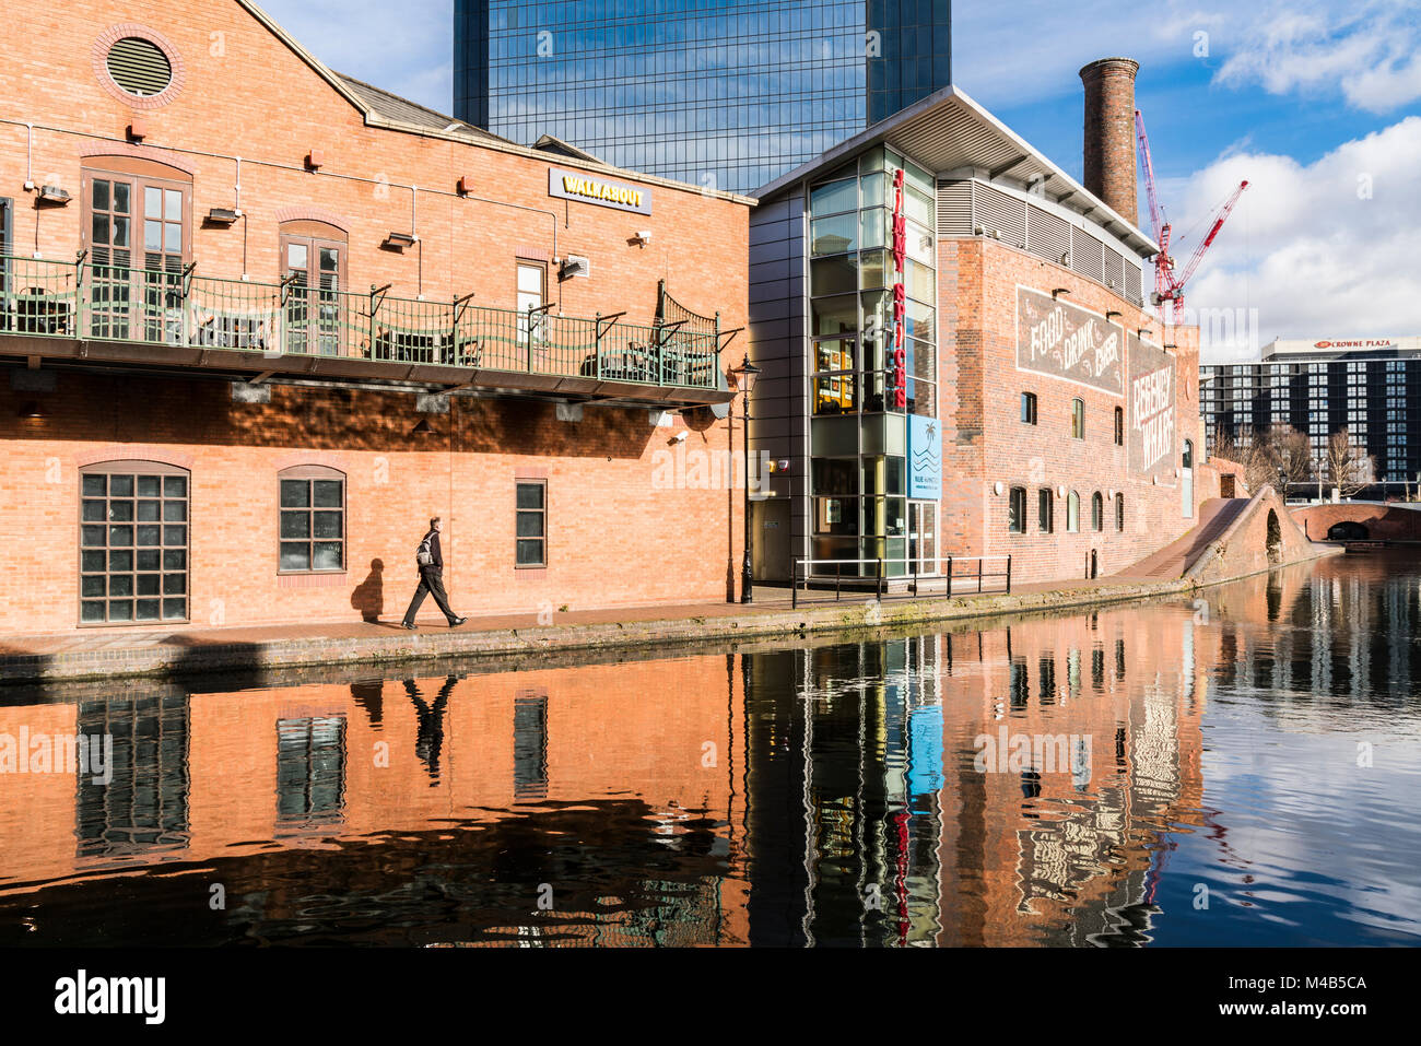
<svg viewBox="0 0 1421 1046"><path fill-rule="evenodd" d="M686 425L652 428L645 411L590 406L570 424L551 404L455 399L418 415L401 394L283 387L246 405L222 382L78 375L61 375L40 422L17 418L21 399L0 385L0 632L75 627L80 469L102 460L190 469L193 624L360 621L377 604L398 620L431 516L460 614L720 600L739 563L740 497L658 489L657 451ZM409 435L421 416L433 435ZM686 446L723 448L725 429ZM345 473L344 574L277 574L277 472L296 465ZM547 568L514 570L514 478L531 475L549 483ZM425 613L439 618L432 601Z"/></svg>

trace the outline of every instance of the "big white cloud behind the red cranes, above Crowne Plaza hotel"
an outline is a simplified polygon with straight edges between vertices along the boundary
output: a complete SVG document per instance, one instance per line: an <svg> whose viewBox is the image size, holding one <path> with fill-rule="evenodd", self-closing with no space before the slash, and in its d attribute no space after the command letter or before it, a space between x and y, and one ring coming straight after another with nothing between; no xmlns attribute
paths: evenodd
<svg viewBox="0 0 1421 1046"><path fill-rule="evenodd" d="M1182 267L1206 217L1243 179L1249 189L1187 289L1191 308L1258 310L1275 337L1381 337L1421 333L1415 200L1421 117L1346 142L1309 165L1231 151L1167 183L1182 200L1174 252Z"/></svg>

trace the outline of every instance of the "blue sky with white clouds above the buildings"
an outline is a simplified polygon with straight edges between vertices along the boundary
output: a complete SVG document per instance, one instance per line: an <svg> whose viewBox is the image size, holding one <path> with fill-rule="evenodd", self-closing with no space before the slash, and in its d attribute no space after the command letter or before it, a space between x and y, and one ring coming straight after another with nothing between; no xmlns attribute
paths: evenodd
<svg viewBox="0 0 1421 1046"><path fill-rule="evenodd" d="M335 70L453 108L452 0L405 0L399 18L388 0L263 7ZM1187 289L1214 310L1206 358L1421 334L1418 0L958 0L952 20L953 82L1077 179L1077 70L1140 61L1181 266L1249 182ZM1152 232L1142 186L1140 222Z"/></svg>

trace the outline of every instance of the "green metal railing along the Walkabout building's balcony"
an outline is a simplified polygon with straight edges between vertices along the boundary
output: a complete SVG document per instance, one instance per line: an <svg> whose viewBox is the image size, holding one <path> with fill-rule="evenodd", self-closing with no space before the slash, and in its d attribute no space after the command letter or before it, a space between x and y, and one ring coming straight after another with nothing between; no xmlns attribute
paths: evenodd
<svg viewBox="0 0 1421 1046"><path fill-rule="evenodd" d="M0 254L0 334L716 389L719 330Z"/></svg>

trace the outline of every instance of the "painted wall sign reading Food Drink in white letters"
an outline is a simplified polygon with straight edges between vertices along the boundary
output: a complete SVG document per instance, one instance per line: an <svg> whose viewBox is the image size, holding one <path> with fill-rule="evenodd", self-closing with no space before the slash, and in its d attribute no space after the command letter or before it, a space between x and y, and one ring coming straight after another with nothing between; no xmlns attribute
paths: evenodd
<svg viewBox="0 0 1421 1046"><path fill-rule="evenodd" d="M1050 294L1017 287L1016 367L1118 397L1125 384L1121 330Z"/></svg>

